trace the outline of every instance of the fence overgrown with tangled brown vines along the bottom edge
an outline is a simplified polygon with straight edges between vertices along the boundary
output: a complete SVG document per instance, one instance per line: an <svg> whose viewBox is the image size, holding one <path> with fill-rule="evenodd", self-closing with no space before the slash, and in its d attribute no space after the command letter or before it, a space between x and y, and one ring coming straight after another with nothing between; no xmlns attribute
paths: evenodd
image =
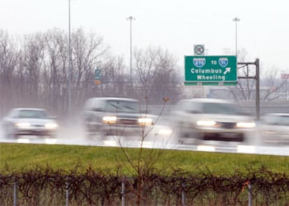
<svg viewBox="0 0 289 206"><path fill-rule="evenodd" d="M0 174L0 205L289 205L289 178L265 168L131 177L46 168Z"/></svg>

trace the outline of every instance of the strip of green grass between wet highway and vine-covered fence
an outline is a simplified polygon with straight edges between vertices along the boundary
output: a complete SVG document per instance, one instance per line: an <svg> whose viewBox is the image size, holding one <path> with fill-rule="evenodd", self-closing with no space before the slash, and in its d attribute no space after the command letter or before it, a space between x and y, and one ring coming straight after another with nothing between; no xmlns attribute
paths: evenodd
<svg viewBox="0 0 289 206"><path fill-rule="evenodd" d="M140 149L125 150L136 163ZM142 159L156 157L158 154L160 156L154 168L166 173L180 169L191 173L210 172L222 175L264 166L272 172L289 174L289 157L144 149ZM91 166L95 170L116 173L119 165L125 165L122 171L124 174L132 171L120 148L0 143L0 173L17 173L47 166L64 171L77 167L80 173Z"/></svg>

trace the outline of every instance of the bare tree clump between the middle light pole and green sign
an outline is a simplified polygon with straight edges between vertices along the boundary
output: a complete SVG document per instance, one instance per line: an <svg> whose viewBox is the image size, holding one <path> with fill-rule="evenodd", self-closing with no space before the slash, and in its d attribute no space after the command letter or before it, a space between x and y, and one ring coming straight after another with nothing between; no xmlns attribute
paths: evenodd
<svg viewBox="0 0 289 206"><path fill-rule="evenodd" d="M181 93L178 90L176 58L161 47L137 49L134 53L135 68L140 79L141 96L149 97L150 103L159 104L162 97L177 100Z"/></svg>

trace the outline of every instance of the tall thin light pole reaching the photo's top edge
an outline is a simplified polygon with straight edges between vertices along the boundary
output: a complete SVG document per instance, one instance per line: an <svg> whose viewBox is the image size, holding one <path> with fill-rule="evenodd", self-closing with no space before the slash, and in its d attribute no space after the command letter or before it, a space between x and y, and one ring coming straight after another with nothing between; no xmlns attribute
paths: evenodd
<svg viewBox="0 0 289 206"><path fill-rule="evenodd" d="M68 118L71 118L71 0L68 0Z"/></svg>

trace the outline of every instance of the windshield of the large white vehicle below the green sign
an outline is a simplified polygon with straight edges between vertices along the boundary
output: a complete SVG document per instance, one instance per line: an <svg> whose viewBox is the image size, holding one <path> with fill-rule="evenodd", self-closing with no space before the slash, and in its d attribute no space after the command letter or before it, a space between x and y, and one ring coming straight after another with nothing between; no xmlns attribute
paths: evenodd
<svg viewBox="0 0 289 206"><path fill-rule="evenodd" d="M221 104L208 102L203 104L203 113L219 113L219 114L237 114L237 111L234 104Z"/></svg>

